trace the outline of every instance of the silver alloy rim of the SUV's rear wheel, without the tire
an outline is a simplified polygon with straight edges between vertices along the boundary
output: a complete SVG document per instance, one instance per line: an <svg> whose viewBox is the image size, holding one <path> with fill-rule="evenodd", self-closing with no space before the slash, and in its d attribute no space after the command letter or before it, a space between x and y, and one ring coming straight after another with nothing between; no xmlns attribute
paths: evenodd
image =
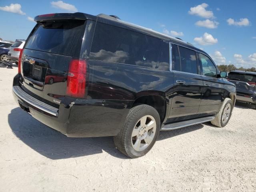
<svg viewBox="0 0 256 192"><path fill-rule="evenodd" d="M132 131L132 147L136 151L146 149L156 134L156 120L146 115L138 120Z"/></svg>

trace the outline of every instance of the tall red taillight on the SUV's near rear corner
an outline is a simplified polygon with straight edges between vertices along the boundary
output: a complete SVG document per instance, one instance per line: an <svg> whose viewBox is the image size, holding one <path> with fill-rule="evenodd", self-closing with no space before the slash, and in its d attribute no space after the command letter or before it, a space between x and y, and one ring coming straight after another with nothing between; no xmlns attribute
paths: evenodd
<svg viewBox="0 0 256 192"><path fill-rule="evenodd" d="M73 59L69 64L67 95L74 98L84 98L86 86L86 60Z"/></svg>

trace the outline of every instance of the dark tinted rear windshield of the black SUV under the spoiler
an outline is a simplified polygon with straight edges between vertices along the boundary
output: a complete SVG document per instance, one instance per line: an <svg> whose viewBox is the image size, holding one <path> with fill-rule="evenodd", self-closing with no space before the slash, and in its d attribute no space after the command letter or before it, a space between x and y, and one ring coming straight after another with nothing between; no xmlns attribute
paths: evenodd
<svg viewBox="0 0 256 192"><path fill-rule="evenodd" d="M51 20L37 24L26 48L74 56L82 45L85 20Z"/></svg>

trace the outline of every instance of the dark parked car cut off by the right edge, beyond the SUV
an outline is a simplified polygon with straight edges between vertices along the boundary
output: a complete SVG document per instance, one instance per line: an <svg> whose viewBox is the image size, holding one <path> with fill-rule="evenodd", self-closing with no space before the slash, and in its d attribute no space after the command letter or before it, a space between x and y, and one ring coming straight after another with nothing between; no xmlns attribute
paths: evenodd
<svg viewBox="0 0 256 192"><path fill-rule="evenodd" d="M228 80L236 85L236 99L256 108L256 72L231 71Z"/></svg>

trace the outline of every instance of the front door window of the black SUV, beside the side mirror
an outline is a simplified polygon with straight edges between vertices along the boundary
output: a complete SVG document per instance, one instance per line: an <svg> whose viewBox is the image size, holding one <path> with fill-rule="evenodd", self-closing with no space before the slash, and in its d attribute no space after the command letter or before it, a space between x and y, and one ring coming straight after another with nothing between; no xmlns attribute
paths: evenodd
<svg viewBox="0 0 256 192"><path fill-rule="evenodd" d="M216 67L214 66L210 58L208 58L207 56L201 53L199 53L199 58L202 63L203 75L216 77L217 76Z"/></svg>

